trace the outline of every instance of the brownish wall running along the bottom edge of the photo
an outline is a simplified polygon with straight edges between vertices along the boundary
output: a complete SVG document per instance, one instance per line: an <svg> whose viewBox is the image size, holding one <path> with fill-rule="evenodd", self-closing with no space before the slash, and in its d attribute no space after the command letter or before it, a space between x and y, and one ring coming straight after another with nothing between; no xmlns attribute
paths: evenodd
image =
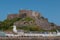
<svg viewBox="0 0 60 40"><path fill-rule="evenodd" d="M0 40L60 40L60 37L0 37Z"/></svg>

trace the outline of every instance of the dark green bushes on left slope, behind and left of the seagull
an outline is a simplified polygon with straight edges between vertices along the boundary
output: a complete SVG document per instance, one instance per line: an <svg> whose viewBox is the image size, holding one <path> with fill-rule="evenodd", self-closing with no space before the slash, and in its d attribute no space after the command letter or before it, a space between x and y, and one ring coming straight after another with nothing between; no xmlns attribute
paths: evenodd
<svg viewBox="0 0 60 40"><path fill-rule="evenodd" d="M14 22L19 21L21 18L14 18L12 20L4 20L3 22L1 22L0 24L0 30L8 30L8 29L12 29L12 25Z"/></svg>

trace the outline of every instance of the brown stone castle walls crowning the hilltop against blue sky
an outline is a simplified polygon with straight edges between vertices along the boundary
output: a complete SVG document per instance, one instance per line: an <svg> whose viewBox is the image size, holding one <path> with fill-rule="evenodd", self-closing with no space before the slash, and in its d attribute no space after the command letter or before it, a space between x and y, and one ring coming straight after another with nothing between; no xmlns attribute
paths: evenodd
<svg viewBox="0 0 60 40"><path fill-rule="evenodd" d="M34 11L31 11L31 10L20 10L18 14L9 14L7 16L7 19L13 19L13 18L23 18L23 17L39 17L40 14L38 12L34 12Z"/></svg>

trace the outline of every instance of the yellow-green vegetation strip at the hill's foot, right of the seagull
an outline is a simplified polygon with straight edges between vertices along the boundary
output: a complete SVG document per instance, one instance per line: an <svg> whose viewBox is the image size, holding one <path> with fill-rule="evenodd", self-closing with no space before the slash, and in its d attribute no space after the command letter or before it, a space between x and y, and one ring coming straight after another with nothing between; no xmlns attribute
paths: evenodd
<svg viewBox="0 0 60 40"><path fill-rule="evenodd" d="M25 31L38 31L38 32L44 32L45 31L44 29L41 29L37 25L22 26L22 27L18 27L17 29L22 29Z"/></svg>

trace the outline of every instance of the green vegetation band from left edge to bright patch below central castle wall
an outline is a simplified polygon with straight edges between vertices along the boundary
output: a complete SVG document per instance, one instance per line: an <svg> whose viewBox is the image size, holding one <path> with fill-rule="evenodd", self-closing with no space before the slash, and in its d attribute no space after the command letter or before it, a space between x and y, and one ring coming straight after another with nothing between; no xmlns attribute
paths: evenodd
<svg viewBox="0 0 60 40"><path fill-rule="evenodd" d="M22 18L14 18L14 19L12 19L12 20L6 19L6 20L4 20L3 22L0 21L0 30L12 29L12 26L13 26L14 22L20 21L20 20L21 20L21 21L22 21L22 20L24 20L24 21L31 21L31 20L33 20L33 19L32 19L32 18L29 18L29 17L26 17L26 18L24 18L24 19L22 19Z"/></svg>

